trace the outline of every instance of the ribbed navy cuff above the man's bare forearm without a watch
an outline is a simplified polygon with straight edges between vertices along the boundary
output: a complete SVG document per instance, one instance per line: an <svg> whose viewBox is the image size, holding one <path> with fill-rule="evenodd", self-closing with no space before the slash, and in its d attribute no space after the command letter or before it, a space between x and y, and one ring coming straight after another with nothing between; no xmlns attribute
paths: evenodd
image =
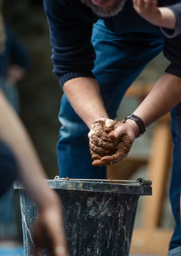
<svg viewBox="0 0 181 256"><path fill-rule="evenodd" d="M59 77L60 86L63 88L64 83L74 78L95 78L92 72L70 72Z"/></svg>

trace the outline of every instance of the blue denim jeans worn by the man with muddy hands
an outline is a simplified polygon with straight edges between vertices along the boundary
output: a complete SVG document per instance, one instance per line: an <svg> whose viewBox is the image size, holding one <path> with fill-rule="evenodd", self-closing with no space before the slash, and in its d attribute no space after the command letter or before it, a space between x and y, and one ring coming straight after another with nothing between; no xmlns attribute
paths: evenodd
<svg viewBox="0 0 181 256"><path fill-rule="evenodd" d="M99 20L93 28L92 43L96 52L93 73L98 80L109 117L113 119L116 117L117 109L128 87L145 68L145 65L161 53L163 37L158 33L114 33L104 25L103 21ZM59 120L62 124L57 145L60 176L106 178L106 167L91 165L88 127L76 115L65 94L61 101ZM178 124L178 114L173 115L173 120ZM179 163L181 146L179 147L179 140L181 137L178 138L178 134L175 136L174 156L177 160L174 162L170 194L173 214L178 226L170 249L181 246L179 231L179 194L181 192L181 164ZM177 176L174 174L175 172Z"/></svg>

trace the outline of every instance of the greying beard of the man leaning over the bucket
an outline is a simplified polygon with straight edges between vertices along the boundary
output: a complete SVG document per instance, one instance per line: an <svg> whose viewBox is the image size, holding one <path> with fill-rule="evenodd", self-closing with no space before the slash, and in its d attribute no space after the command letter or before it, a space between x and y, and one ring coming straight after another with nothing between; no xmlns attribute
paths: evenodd
<svg viewBox="0 0 181 256"><path fill-rule="evenodd" d="M102 0L102 3L107 0ZM86 4L98 17L100 18L110 18L117 15L123 10L126 0L114 0L112 6L101 7L92 3L91 0L81 0L83 4Z"/></svg>

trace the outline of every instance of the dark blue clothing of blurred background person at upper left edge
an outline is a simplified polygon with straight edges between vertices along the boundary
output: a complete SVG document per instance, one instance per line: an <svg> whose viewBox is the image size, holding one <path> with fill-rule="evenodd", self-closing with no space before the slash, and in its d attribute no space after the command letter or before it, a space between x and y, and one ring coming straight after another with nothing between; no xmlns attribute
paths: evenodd
<svg viewBox="0 0 181 256"><path fill-rule="evenodd" d="M7 76L10 64L28 69L30 58L23 44L15 37L10 27L5 24L6 43L4 52L0 53L0 77Z"/></svg>

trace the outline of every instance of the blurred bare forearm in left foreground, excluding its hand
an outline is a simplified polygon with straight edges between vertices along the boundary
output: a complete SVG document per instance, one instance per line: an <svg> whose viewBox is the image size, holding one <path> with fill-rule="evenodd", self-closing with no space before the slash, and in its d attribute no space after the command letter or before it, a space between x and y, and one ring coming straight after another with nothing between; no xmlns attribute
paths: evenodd
<svg viewBox="0 0 181 256"><path fill-rule="evenodd" d="M19 170L19 177L29 196L39 208L54 204L53 191L48 189L43 167L35 148L20 119L0 92L0 139L13 151Z"/></svg>

